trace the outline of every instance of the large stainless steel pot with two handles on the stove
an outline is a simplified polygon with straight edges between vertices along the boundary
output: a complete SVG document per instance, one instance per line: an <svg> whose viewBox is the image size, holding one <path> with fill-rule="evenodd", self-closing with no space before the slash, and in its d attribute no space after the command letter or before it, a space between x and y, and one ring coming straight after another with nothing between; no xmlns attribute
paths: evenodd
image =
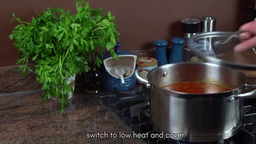
<svg viewBox="0 0 256 144"><path fill-rule="evenodd" d="M137 79L150 89L150 115L153 129L159 133L184 134L177 140L211 142L236 134L242 124L243 98L247 77L241 71L211 63L182 62L157 67L149 71L148 81L135 71ZM147 69L143 69L147 70ZM148 70L147 70L148 71ZM181 82L218 84L232 89L214 94L187 94L162 87Z"/></svg>

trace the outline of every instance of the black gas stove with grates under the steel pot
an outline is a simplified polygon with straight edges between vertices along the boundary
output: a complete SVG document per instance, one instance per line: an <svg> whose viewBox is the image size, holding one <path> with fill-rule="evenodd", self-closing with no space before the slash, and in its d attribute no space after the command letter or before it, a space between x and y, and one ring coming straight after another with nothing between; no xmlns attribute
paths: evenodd
<svg viewBox="0 0 256 144"><path fill-rule="evenodd" d="M149 89L98 94L95 98L131 134L139 136L141 143L171 144L256 144L256 99L245 99L243 107L243 126L231 138L215 142L186 142L163 137L150 126ZM170 135L171 136L171 135Z"/></svg>

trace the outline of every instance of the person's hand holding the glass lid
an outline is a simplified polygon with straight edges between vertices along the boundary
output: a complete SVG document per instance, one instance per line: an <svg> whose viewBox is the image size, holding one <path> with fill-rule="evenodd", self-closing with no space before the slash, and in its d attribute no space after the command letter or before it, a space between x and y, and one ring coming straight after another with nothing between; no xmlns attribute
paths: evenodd
<svg viewBox="0 0 256 144"><path fill-rule="evenodd" d="M242 52L256 47L256 21L245 23L240 27L240 30L243 31L243 33L239 35L239 39L241 39L242 43L236 45L234 51Z"/></svg>

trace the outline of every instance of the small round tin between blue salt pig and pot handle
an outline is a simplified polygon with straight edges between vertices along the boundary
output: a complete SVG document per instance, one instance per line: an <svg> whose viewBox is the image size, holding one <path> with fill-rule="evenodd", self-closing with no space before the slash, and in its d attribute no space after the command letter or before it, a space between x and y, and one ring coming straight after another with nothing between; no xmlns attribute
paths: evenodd
<svg viewBox="0 0 256 144"><path fill-rule="evenodd" d="M151 57L139 57L136 61L137 68L152 70L157 67L157 60ZM148 71L139 70L139 76L147 80ZM138 82L141 84L140 82Z"/></svg>

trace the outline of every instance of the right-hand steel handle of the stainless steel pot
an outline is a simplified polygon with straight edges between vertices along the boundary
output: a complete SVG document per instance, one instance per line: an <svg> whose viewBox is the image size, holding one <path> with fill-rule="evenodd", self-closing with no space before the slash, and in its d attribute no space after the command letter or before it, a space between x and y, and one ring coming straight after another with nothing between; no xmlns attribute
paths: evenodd
<svg viewBox="0 0 256 144"><path fill-rule="evenodd" d="M252 88L255 88L255 87L256 87L256 85L245 85L245 90L252 89ZM231 95L231 96L228 97L228 102L233 102L233 101L238 100L238 99L249 98L249 97L252 97L255 94L256 94L256 90L253 90L253 91L247 92L247 93Z"/></svg>

